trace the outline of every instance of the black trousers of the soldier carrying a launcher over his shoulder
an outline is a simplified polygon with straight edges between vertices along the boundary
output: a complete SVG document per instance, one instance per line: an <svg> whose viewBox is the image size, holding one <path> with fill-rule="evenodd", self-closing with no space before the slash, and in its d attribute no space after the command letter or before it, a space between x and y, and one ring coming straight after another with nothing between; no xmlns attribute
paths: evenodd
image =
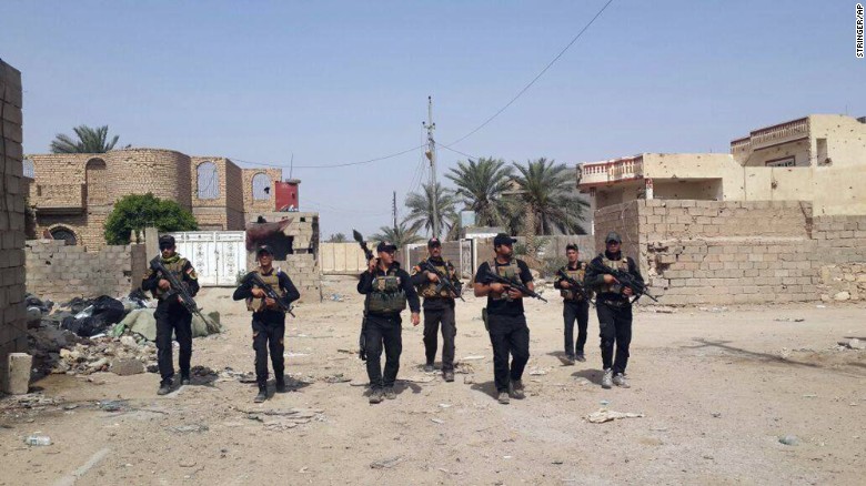
<svg viewBox="0 0 866 486"><path fill-rule="evenodd" d="M394 386L400 371L400 354L403 352L402 320L400 314L382 316L367 314L366 328L366 375L373 389ZM385 373L382 374L382 348L385 351Z"/></svg>

